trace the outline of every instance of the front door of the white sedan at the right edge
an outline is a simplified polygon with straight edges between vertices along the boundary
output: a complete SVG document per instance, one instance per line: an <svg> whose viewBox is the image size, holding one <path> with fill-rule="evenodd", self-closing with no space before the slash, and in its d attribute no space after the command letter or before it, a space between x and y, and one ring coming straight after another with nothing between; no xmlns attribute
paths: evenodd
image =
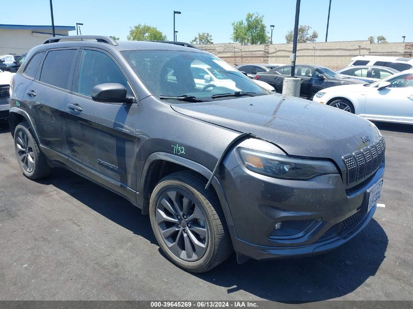
<svg viewBox="0 0 413 309"><path fill-rule="evenodd" d="M413 123L413 73L387 80L382 90L371 88L366 97L366 117Z"/></svg>

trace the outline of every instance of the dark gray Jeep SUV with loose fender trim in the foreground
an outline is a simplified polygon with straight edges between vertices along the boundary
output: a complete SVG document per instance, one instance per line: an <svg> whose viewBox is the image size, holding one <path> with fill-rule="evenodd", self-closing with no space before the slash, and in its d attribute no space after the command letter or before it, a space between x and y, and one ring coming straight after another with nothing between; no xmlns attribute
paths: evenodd
<svg viewBox="0 0 413 309"><path fill-rule="evenodd" d="M199 62L235 87L197 88ZM242 263L342 245L372 218L385 166L369 121L267 95L172 43L50 38L13 78L9 124L24 176L62 166L125 197L149 214L165 255L195 272L233 248Z"/></svg>

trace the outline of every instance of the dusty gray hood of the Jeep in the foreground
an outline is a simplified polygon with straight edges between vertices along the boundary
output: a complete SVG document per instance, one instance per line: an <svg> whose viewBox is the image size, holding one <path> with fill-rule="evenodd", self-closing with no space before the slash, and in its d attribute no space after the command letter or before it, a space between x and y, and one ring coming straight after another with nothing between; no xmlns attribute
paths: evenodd
<svg viewBox="0 0 413 309"><path fill-rule="evenodd" d="M178 113L239 132L254 133L287 154L341 157L373 143L379 132L370 121L324 104L281 94L205 103L172 104Z"/></svg>

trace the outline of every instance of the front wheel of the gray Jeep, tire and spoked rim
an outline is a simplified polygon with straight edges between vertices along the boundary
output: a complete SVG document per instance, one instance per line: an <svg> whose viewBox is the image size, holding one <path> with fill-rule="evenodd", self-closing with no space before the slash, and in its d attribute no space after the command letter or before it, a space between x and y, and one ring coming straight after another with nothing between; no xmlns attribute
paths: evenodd
<svg viewBox="0 0 413 309"><path fill-rule="evenodd" d="M215 196L191 172L171 174L156 185L150 218L159 246L180 268L205 272L222 263L232 251Z"/></svg>

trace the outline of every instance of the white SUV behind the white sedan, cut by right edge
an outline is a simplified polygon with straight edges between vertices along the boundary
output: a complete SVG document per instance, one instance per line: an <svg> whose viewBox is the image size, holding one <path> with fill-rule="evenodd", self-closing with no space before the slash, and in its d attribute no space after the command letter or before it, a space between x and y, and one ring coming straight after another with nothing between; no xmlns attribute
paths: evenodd
<svg viewBox="0 0 413 309"><path fill-rule="evenodd" d="M351 58L351 62L348 66L352 65L386 66L401 72L413 68L413 59L390 56L361 55Z"/></svg>

